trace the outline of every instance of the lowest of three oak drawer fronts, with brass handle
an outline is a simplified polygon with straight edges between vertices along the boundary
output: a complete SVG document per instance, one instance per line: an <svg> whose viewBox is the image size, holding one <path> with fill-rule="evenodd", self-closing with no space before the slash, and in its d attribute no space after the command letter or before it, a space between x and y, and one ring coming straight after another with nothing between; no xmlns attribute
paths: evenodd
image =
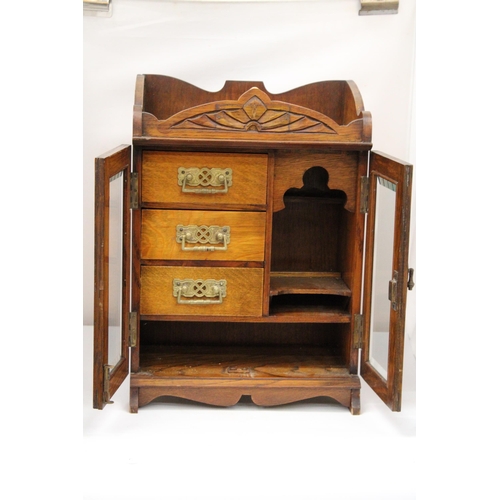
<svg viewBox="0 0 500 500"><path fill-rule="evenodd" d="M141 314L261 316L263 270L143 266Z"/></svg>

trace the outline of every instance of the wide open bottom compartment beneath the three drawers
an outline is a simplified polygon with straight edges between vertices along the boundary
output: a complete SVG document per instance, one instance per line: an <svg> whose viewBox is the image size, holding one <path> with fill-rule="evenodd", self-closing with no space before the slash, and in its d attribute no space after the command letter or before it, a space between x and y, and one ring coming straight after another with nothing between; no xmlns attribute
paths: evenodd
<svg viewBox="0 0 500 500"><path fill-rule="evenodd" d="M141 321L140 371L158 377L348 375L345 324Z"/></svg>

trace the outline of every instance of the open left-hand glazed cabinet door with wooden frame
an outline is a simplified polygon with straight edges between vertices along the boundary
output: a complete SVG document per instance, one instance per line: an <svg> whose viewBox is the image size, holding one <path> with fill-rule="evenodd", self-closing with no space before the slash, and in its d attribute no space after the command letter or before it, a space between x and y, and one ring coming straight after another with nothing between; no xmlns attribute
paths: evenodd
<svg viewBox="0 0 500 500"><path fill-rule="evenodd" d="M94 408L129 372L130 157L120 146L95 160Z"/></svg>

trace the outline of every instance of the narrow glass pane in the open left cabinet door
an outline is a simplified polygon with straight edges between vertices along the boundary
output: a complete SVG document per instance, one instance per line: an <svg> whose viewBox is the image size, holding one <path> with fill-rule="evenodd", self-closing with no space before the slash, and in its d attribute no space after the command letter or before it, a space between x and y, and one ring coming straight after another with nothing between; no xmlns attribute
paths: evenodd
<svg viewBox="0 0 500 500"><path fill-rule="evenodd" d="M122 228L123 174L109 184L109 296L108 296L108 364L116 365L122 353Z"/></svg>

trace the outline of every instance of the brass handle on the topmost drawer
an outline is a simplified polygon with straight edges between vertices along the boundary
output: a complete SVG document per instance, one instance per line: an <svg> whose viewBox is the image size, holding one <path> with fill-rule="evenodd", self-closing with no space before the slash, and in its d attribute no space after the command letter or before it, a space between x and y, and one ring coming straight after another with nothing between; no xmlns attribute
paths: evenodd
<svg viewBox="0 0 500 500"><path fill-rule="evenodd" d="M177 182L183 193L225 194L233 185L233 171L230 168L180 167Z"/></svg>

